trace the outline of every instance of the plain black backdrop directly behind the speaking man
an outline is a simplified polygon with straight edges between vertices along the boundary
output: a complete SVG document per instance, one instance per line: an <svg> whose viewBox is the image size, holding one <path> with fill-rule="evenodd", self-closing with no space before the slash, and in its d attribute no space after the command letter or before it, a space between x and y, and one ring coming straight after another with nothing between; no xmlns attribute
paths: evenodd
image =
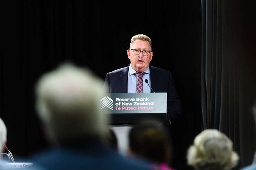
<svg viewBox="0 0 256 170"><path fill-rule="evenodd" d="M201 131L201 1L1 1L0 116L13 156L27 157L48 144L35 114L39 76L64 61L107 72L129 64L135 34L153 42L152 66L172 72L183 115L172 121L172 167Z"/></svg>

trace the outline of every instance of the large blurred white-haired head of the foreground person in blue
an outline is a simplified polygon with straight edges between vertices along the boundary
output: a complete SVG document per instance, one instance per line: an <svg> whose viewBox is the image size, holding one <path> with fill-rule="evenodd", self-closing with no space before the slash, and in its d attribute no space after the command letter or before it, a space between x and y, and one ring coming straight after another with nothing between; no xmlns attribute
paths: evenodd
<svg viewBox="0 0 256 170"><path fill-rule="evenodd" d="M72 64L64 64L40 78L36 109L58 141L104 135L108 117L99 109L102 84L92 72Z"/></svg>

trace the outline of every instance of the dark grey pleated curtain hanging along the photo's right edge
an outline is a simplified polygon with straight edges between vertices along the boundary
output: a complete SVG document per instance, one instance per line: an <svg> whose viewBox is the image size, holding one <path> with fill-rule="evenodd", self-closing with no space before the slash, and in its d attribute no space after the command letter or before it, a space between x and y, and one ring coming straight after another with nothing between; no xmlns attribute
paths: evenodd
<svg viewBox="0 0 256 170"><path fill-rule="evenodd" d="M233 141L236 167L252 163L256 126L255 1L202 0L202 123Z"/></svg>

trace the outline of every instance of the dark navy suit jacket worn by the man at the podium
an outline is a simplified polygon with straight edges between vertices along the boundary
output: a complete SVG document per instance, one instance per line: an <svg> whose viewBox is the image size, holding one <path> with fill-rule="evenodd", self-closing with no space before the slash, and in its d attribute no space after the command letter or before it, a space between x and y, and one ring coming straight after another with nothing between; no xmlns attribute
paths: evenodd
<svg viewBox="0 0 256 170"><path fill-rule="evenodd" d="M129 66L107 73L104 82L107 93L127 93L128 70ZM181 114L182 107L171 72L152 66L149 70L151 88L155 92L167 92L167 113L171 120L176 118Z"/></svg>

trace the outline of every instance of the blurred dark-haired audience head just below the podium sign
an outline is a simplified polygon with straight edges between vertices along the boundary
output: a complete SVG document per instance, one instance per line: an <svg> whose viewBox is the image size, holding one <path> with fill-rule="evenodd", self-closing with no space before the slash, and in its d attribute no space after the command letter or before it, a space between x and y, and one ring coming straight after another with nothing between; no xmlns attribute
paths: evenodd
<svg viewBox="0 0 256 170"><path fill-rule="evenodd" d="M170 139L158 121L142 120L129 133L132 155L155 163L169 163L170 149Z"/></svg>

